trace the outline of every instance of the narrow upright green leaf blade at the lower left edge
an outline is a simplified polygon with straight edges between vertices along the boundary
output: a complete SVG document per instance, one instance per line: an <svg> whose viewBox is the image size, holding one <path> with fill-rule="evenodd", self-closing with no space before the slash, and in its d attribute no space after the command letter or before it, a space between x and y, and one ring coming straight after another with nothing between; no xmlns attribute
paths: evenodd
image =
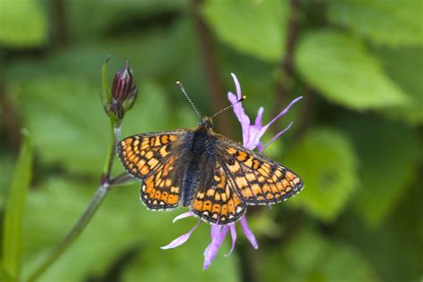
<svg viewBox="0 0 423 282"><path fill-rule="evenodd" d="M27 131L23 136L3 221L3 270L12 281L18 280L21 274L22 218L32 176L32 145Z"/></svg>

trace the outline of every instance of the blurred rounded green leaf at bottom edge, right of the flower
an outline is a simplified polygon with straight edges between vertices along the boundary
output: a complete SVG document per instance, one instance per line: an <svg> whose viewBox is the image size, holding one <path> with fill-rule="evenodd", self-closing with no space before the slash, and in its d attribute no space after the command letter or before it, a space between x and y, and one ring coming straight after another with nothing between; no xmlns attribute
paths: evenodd
<svg viewBox="0 0 423 282"><path fill-rule="evenodd" d="M261 270L264 280L337 282L377 281L361 253L343 242L304 228L284 247L272 248Z"/></svg>

